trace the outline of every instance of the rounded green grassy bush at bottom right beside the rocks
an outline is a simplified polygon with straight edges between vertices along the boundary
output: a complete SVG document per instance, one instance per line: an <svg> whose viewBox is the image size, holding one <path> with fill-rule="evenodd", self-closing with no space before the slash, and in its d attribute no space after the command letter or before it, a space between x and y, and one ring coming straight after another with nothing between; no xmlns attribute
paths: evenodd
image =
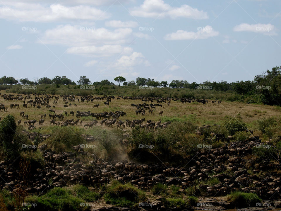
<svg viewBox="0 0 281 211"><path fill-rule="evenodd" d="M261 199L255 193L233 192L227 195L227 201L234 205L235 208L254 207L260 203Z"/></svg>

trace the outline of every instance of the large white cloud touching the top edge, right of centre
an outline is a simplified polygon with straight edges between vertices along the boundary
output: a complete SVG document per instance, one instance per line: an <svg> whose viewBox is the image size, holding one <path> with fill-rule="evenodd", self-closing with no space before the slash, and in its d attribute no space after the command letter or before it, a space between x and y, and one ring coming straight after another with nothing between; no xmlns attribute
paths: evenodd
<svg viewBox="0 0 281 211"><path fill-rule="evenodd" d="M134 7L130 11L132 16L145 18L194 18L208 19L206 12L199 11L189 5L181 5L181 7L172 7L165 4L163 0L145 0L139 7Z"/></svg>

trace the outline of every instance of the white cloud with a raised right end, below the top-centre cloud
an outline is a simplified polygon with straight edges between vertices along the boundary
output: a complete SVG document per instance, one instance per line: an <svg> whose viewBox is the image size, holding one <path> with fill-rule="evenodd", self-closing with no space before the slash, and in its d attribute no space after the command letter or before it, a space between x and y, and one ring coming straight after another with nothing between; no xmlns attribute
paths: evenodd
<svg viewBox="0 0 281 211"><path fill-rule="evenodd" d="M177 30L177 32L173 32L171 34L165 35L165 40L194 40L194 39L207 39L209 37L215 37L219 34L219 32L213 30L213 28L209 25L201 28L198 27L197 32L188 32L184 30Z"/></svg>

